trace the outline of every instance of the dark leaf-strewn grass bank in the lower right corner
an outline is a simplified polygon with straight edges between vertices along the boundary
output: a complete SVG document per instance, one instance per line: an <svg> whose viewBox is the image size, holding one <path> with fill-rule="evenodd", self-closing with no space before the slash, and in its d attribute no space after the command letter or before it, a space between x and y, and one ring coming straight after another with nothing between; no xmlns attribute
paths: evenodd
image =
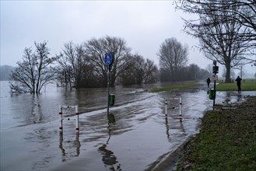
<svg viewBox="0 0 256 171"><path fill-rule="evenodd" d="M207 112L177 170L256 170L255 103L254 96L235 109Z"/></svg>

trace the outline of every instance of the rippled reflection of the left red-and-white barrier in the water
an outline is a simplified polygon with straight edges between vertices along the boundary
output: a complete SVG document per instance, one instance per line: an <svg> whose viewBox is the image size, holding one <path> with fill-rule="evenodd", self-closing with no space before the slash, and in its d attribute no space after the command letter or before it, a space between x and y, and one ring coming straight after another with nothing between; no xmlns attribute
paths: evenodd
<svg viewBox="0 0 256 171"><path fill-rule="evenodd" d="M60 134L60 145L59 148L61 148L61 154L62 154L62 162L66 161L66 158L68 158L68 155L72 157L77 157L80 154L80 141L79 141L79 132L76 132L75 141L65 141L67 142L67 147L64 147L63 142L63 134ZM65 149L66 148L66 149ZM75 148L75 155L74 151L68 152L68 150Z"/></svg>

